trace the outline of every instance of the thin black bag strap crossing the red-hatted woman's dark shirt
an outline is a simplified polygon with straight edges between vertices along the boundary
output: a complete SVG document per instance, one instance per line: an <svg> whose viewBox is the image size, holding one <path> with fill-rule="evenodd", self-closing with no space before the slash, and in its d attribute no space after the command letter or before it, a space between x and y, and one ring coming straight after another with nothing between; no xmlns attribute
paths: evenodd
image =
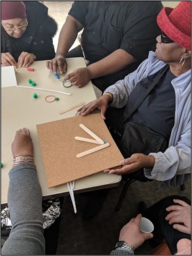
<svg viewBox="0 0 192 256"><path fill-rule="evenodd" d="M128 114L127 114L127 118L125 121L127 121L127 119L129 118L129 116L131 116L131 114L133 114L133 112L141 105L141 103L143 103L143 100L145 100L145 98L147 97L147 95L150 93L150 91L152 91L152 89L154 88L155 84L157 84L157 82L160 80L160 78L162 77L162 75L166 72L166 70L168 70L169 65L166 65L165 67L161 68L161 70L159 71L159 73L157 74L157 77L155 77L154 81L152 82L152 84L149 86L149 88L147 88L147 90L141 95L140 98L138 98L138 100L136 101L134 107L132 107L131 110L129 110ZM125 123L125 121L123 123Z"/></svg>

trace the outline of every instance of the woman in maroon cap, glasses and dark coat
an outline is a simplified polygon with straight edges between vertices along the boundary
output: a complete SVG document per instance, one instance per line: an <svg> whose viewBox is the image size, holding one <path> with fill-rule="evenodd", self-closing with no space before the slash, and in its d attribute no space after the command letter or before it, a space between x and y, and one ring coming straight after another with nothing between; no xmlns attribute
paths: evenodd
<svg viewBox="0 0 192 256"><path fill-rule="evenodd" d="M1 63L29 67L55 56L56 21L38 1L1 1Z"/></svg>

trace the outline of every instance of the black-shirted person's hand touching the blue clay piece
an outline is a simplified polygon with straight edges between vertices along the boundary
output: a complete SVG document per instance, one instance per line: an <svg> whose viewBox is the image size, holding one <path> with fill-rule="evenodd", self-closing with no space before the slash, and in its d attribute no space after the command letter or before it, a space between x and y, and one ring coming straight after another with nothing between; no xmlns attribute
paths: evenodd
<svg viewBox="0 0 192 256"><path fill-rule="evenodd" d="M57 68L61 74L65 74L67 71L67 61L63 55L57 55L54 59L51 59L51 61L47 61L46 66L55 74L57 73Z"/></svg>

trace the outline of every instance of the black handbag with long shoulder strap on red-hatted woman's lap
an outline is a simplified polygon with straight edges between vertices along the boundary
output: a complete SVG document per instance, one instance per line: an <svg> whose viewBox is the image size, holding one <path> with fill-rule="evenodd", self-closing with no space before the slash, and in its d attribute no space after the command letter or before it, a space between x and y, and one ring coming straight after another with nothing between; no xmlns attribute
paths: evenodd
<svg viewBox="0 0 192 256"><path fill-rule="evenodd" d="M165 68L161 69L158 73L156 79L149 88L138 98L134 107L129 110L127 114L127 119L133 112L138 108L143 100L147 97L150 91L154 88L155 84L159 81L163 73L168 69L168 65ZM124 121L123 131L122 131L122 150L125 152L125 157L130 157L133 153L144 153L148 155L149 153L157 153L159 151L164 152L168 148L168 142L166 137L160 133L155 132L147 126L143 126L138 123L127 122L127 119Z"/></svg>

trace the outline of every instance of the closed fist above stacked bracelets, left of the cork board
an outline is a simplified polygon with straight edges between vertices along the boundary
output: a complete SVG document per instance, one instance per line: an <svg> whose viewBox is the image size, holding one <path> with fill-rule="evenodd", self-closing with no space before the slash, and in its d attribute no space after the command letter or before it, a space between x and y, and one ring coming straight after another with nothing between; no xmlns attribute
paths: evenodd
<svg viewBox="0 0 192 256"><path fill-rule="evenodd" d="M15 156L33 156L33 142L28 129L22 128L15 133L15 139L11 145L13 158Z"/></svg>

